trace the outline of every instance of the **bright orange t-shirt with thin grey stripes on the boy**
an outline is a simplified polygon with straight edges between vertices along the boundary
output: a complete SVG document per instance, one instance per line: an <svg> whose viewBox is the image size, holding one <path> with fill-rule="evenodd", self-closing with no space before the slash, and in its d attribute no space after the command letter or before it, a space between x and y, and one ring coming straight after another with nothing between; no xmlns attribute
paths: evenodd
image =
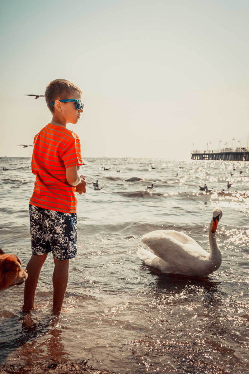
<svg viewBox="0 0 249 374"><path fill-rule="evenodd" d="M83 165L80 139L62 126L48 123L34 138L32 173L36 175L31 205L75 213L75 187L66 180L66 168Z"/></svg>

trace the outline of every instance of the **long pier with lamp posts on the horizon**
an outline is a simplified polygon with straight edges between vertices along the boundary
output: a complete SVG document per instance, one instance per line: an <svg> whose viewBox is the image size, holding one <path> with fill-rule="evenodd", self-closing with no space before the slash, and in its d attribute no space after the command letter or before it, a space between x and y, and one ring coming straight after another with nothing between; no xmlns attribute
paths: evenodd
<svg viewBox="0 0 249 374"><path fill-rule="evenodd" d="M249 161L249 148L221 148L219 150L193 150L191 160Z"/></svg>

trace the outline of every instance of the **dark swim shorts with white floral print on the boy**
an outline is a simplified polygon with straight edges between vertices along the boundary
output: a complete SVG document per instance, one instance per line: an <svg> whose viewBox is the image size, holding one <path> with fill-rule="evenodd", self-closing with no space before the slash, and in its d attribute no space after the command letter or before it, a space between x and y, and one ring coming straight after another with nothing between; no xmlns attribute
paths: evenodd
<svg viewBox="0 0 249 374"><path fill-rule="evenodd" d="M69 260L77 253L77 214L63 213L29 204L32 254L52 251L56 260Z"/></svg>

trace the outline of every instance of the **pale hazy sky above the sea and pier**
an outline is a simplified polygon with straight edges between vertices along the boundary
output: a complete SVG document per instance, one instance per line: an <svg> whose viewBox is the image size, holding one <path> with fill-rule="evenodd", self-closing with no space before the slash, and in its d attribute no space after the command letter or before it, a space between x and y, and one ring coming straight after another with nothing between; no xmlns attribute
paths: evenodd
<svg viewBox="0 0 249 374"><path fill-rule="evenodd" d="M82 90L84 157L246 147L248 0L3 1L0 156L31 156L53 79ZM234 139L234 140L233 140Z"/></svg>

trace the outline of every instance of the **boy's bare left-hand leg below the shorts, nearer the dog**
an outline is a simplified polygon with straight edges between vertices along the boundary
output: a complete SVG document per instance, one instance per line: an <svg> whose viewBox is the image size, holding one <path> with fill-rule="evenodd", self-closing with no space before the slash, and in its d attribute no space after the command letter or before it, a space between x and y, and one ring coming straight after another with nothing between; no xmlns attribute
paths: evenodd
<svg viewBox="0 0 249 374"><path fill-rule="evenodd" d="M44 255L33 255L31 256L26 270L28 272L28 278L24 283L24 305L22 310L24 312L30 312L34 309L35 290L37 287L41 267L47 258L47 253Z"/></svg>

